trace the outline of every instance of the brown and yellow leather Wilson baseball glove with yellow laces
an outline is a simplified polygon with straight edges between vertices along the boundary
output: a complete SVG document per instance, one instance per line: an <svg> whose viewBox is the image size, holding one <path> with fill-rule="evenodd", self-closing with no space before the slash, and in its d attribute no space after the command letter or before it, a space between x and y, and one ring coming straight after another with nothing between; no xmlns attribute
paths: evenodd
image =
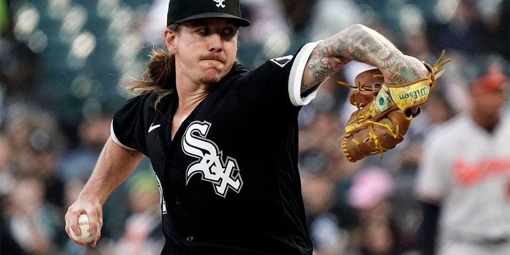
<svg viewBox="0 0 510 255"><path fill-rule="evenodd" d="M358 109L351 114L345 135L339 141L347 160L356 162L375 154L382 158L383 152L404 139L411 119L420 113L418 106L425 102L435 79L442 74L441 67L450 62L450 59L441 62L443 57L444 50L433 67L422 61L429 74L411 83L386 84L379 69L358 74L355 86L338 82L356 89L351 92L349 103Z"/></svg>

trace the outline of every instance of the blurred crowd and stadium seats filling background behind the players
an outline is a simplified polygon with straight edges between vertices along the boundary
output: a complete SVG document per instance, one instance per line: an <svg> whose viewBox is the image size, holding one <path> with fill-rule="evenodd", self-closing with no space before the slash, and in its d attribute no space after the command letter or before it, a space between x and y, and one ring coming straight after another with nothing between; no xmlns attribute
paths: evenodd
<svg viewBox="0 0 510 255"><path fill-rule="evenodd" d="M63 215L110 135L113 111L129 97L120 84L140 77L146 54L161 46L167 2L0 0L0 253L160 253L159 191L147 160L107 200L95 249L69 241ZM349 163L338 147L355 107L348 104L351 89L337 80L352 84L369 66L349 63L299 116L302 193L315 254L419 254L413 186L423 141L468 109L473 79L487 69L508 75L509 1L240 2L251 26L240 29L238 62L249 69L352 23L427 63L446 49L447 71L404 141L382 158Z"/></svg>

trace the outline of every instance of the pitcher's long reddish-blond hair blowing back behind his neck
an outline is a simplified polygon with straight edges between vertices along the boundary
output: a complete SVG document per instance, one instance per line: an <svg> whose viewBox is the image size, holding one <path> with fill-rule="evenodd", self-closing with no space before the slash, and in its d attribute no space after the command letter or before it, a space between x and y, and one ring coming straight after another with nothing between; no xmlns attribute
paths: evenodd
<svg viewBox="0 0 510 255"><path fill-rule="evenodd" d="M171 24L168 27L175 32L178 32L179 28L179 24ZM165 96L175 91L175 55L154 46L149 57L150 60L142 73L142 79L134 79L124 84L123 87L127 91L137 94L155 92L158 97L154 102L154 107L157 108Z"/></svg>

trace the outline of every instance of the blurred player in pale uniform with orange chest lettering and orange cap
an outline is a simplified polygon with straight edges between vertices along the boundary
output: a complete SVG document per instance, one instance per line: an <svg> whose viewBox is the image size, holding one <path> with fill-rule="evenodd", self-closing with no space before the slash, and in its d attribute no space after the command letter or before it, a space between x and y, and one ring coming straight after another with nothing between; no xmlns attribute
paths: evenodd
<svg viewBox="0 0 510 255"><path fill-rule="evenodd" d="M416 180L424 209L422 255L510 254L507 81L489 74L473 82L469 111L439 126L424 144Z"/></svg>

